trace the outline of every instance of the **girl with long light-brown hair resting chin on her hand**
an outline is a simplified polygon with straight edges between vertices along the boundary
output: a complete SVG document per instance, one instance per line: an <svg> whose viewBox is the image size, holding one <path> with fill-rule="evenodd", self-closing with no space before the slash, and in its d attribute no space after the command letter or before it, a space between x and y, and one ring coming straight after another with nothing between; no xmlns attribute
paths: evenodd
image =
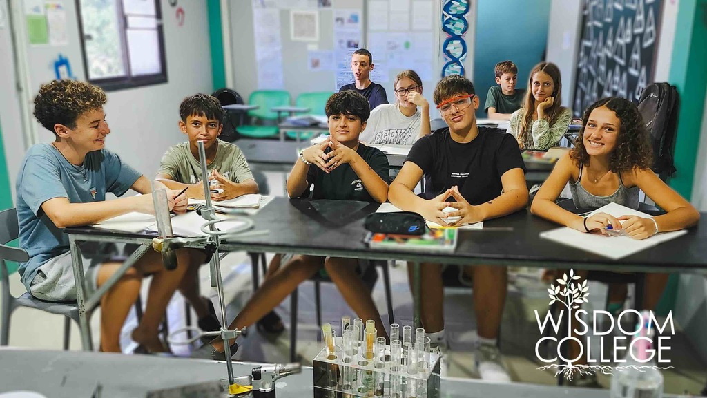
<svg viewBox="0 0 707 398"><path fill-rule="evenodd" d="M567 131L572 111L561 106L560 69L540 62L530 71L523 107L510 116L508 132L520 149L545 151L560 142Z"/></svg>

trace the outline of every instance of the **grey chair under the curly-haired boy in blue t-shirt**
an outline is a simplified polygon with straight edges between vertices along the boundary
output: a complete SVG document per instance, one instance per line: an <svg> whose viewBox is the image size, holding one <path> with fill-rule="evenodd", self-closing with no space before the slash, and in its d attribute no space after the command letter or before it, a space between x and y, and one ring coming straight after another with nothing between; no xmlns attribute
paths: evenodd
<svg viewBox="0 0 707 398"><path fill-rule="evenodd" d="M13 268L11 270L6 261L21 263L28 261L30 258L24 249L7 245L8 242L17 239L18 235L19 226L16 209L12 208L0 212L0 273L2 274L0 346L7 346L8 344L12 312L18 307L27 307L40 309L52 314L64 315L64 350L68 350L71 336L71 319L74 319L74 322L78 324L82 335L88 333L88 331L81 329L81 324L78 322L78 304L76 302L48 302L33 297L29 292L25 292L20 297L13 297L10 293L9 275L14 273L16 269Z"/></svg>

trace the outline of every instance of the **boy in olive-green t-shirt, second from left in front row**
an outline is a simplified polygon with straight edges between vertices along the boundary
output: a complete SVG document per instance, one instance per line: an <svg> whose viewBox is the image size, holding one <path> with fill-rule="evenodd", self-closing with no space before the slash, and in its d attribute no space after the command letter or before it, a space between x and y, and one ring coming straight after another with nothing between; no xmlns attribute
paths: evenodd
<svg viewBox="0 0 707 398"><path fill-rule="evenodd" d="M189 141L176 144L165 152L160 161L156 180L170 189L187 188L189 198L203 199L199 142L204 142L206 171L211 181L211 200L228 200L247 193L258 193L250 167L240 148L218 140L223 128L223 108L212 96L197 94L180 104L179 128ZM203 251L190 251L192 261L179 290L194 307L199 317L199 327L216 331L221 325L216 318L214 305L207 297L199 295L199 266L208 261Z"/></svg>

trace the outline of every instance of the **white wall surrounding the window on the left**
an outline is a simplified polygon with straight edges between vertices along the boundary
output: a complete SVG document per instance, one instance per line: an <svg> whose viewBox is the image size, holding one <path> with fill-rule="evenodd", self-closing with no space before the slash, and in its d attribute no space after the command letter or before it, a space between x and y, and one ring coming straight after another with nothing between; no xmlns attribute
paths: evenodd
<svg viewBox="0 0 707 398"><path fill-rule="evenodd" d="M5 3L7 0L0 0ZM17 3L17 2L14 2ZM148 177L154 176L165 150L185 136L177 128L179 104L194 93L211 93L211 50L206 0L180 0L185 10L185 22L177 25L170 1L161 0L163 31L167 59L168 82L137 89L110 91L105 106L111 134L107 148L119 154L127 163ZM78 45L76 3L64 1L69 23L69 45L63 47L30 47L30 96L40 84L54 79L52 62L59 52L69 55L71 68L78 79L84 79L81 48ZM17 28L17 27L16 27ZM21 28L24 28L21 26ZM78 52L77 52L78 49ZM19 166L27 147L21 132L21 113L16 94L14 64L11 58L9 28L0 28L0 120L8 163L8 173L14 190ZM7 56L5 56L7 55ZM31 110L31 108L30 108ZM51 132L37 125L40 142L54 139ZM14 191L13 191L14 192Z"/></svg>

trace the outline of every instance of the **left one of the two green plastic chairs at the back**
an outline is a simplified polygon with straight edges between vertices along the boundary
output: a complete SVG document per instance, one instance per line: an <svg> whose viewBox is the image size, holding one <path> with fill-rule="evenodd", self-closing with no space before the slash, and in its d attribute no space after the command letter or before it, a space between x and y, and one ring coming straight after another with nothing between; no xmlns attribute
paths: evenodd
<svg viewBox="0 0 707 398"><path fill-rule="evenodd" d="M290 93L284 90L256 90L250 93L248 105L257 105L260 108L248 110L250 122L253 124L238 126L240 135L250 138L276 137L278 135L277 113L270 109L276 106L290 106ZM254 122L257 120L275 124L256 125Z"/></svg>

